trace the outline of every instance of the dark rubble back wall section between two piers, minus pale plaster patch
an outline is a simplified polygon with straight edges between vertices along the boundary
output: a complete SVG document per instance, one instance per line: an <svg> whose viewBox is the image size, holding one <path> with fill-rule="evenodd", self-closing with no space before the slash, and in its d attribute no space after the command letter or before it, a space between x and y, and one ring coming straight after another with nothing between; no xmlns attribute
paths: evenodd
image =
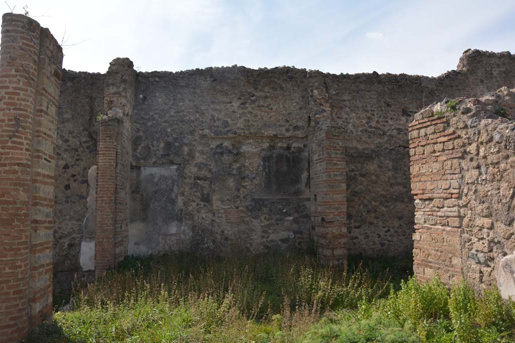
<svg viewBox="0 0 515 343"><path fill-rule="evenodd" d="M133 164L177 166L179 225L165 245L199 254L307 245L305 77L243 67L138 74Z"/></svg>

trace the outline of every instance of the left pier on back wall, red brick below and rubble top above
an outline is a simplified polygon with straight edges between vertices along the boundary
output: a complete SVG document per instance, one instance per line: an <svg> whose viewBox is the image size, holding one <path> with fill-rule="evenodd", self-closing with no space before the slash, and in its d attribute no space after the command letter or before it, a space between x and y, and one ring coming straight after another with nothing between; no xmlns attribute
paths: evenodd
<svg viewBox="0 0 515 343"><path fill-rule="evenodd" d="M100 120L97 153L95 270L103 275L128 250L128 201L131 161L130 120L136 74L127 58L114 59L107 72L106 116Z"/></svg>

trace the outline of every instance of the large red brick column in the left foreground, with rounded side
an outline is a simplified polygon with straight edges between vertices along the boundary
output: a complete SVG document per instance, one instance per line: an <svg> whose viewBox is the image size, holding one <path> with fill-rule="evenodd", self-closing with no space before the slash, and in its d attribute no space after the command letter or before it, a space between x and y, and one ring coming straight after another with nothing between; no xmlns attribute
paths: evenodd
<svg viewBox="0 0 515 343"><path fill-rule="evenodd" d="M62 50L25 15L2 18L0 342L52 320L56 118Z"/></svg>

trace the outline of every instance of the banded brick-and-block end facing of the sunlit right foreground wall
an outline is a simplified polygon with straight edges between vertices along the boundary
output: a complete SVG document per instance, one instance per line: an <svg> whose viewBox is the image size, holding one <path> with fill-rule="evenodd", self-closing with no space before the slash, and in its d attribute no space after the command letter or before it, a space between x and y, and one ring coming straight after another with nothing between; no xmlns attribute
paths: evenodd
<svg viewBox="0 0 515 343"><path fill-rule="evenodd" d="M464 148L445 117L419 112L409 124L411 193L415 198L414 272L422 281L436 273L461 279L460 159Z"/></svg>

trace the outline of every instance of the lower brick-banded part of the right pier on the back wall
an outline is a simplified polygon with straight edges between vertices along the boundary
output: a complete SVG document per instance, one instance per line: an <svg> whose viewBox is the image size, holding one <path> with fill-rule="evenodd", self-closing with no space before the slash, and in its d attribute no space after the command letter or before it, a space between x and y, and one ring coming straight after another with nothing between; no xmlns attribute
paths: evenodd
<svg viewBox="0 0 515 343"><path fill-rule="evenodd" d="M336 130L310 136L312 237L323 263L347 261L347 189L345 146Z"/></svg>

